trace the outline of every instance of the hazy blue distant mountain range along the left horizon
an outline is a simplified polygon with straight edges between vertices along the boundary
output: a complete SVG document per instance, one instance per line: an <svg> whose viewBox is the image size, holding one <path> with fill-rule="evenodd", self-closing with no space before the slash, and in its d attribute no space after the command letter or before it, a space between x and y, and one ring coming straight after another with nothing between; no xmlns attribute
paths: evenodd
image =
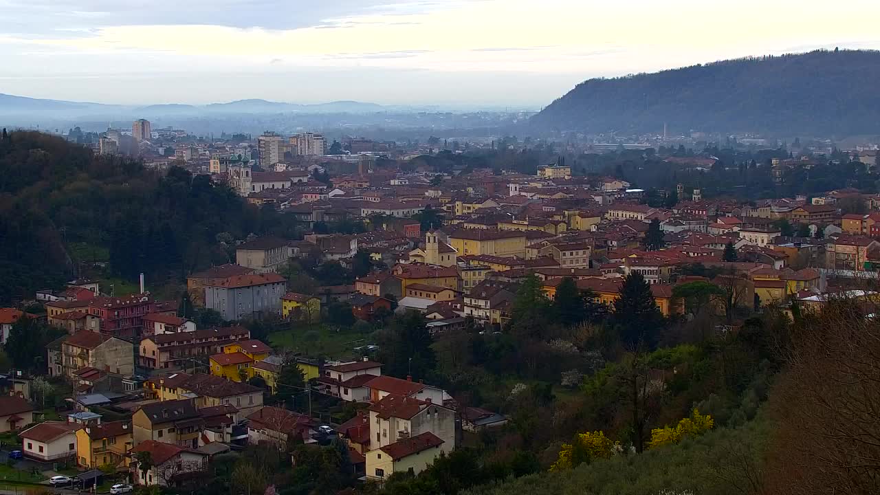
<svg viewBox="0 0 880 495"><path fill-rule="evenodd" d="M331 101L313 105L281 103L268 100L237 100L209 105L106 105L103 103L40 100L0 93L0 116L29 117L46 115L52 118L150 118L165 115L236 115L236 114L368 114L399 111L404 107L385 107L361 101Z"/></svg>

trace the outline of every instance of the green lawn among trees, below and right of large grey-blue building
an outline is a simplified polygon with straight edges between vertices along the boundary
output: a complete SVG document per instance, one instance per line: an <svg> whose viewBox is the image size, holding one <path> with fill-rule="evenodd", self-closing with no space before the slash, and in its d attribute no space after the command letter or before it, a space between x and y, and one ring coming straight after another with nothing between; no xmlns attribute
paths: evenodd
<svg viewBox="0 0 880 495"><path fill-rule="evenodd" d="M373 344L369 334L352 329L334 329L316 324L312 329L297 326L269 334L269 343L276 348L302 352L306 356L347 358L356 355L355 347Z"/></svg>

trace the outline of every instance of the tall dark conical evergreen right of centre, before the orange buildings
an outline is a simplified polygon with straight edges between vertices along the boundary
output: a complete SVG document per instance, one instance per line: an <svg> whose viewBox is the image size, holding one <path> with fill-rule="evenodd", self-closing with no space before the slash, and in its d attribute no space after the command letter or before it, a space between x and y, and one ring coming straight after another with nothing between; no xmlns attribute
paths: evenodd
<svg viewBox="0 0 880 495"><path fill-rule="evenodd" d="M654 302L650 284L642 275L631 272L624 279L620 297L614 301L613 321L628 350L650 349L656 343L663 325L663 314Z"/></svg>

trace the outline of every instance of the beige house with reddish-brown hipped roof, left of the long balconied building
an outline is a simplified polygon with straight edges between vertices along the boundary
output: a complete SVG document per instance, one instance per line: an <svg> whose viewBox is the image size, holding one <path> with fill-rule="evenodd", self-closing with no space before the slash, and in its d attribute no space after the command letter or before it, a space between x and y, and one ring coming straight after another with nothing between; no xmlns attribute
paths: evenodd
<svg viewBox="0 0 880 495"><path fill-rule="evenodd" d="M62 373L69 380L75 373L92 367L108 373L130 376L135 373L134 346L114 336L77 332L62 342Z"/></svg>

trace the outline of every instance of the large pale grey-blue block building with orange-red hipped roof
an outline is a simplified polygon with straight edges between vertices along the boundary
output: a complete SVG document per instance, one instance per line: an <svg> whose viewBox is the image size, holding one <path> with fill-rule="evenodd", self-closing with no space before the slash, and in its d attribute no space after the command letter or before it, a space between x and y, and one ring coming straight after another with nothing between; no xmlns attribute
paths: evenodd
<svg viewBox="0 0 880 495"><path fill-rule="evenodd" d="M225 321L280 314L285 292L287 280L276 273L239 275L205 285L205 307L220 313Z"/></svg>

